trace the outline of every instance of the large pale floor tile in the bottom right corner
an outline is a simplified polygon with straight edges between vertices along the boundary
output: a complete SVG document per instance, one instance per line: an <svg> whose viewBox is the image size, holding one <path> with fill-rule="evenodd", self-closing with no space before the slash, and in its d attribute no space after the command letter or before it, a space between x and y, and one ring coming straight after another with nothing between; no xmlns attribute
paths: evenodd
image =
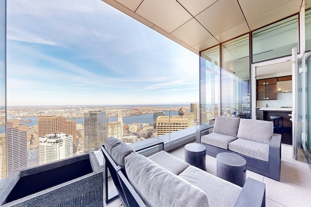
<svg viewBox="0 0 311 207"><path fill-rule="evenodd" d="M310 207L311 189L281 179L280 182L264 177L266 198L286 207Z"/></svg>

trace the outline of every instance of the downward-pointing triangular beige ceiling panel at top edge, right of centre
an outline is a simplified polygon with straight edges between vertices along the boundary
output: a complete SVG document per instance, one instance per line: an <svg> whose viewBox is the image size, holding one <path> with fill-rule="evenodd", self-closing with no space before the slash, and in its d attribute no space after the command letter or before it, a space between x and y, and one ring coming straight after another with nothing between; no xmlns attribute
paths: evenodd
<svg viewBox="0 0 311 207"><path fill-rule="evenodd" d="M217 0L177 0L192 16L197 16L200 12L215 3Z"/></svg>

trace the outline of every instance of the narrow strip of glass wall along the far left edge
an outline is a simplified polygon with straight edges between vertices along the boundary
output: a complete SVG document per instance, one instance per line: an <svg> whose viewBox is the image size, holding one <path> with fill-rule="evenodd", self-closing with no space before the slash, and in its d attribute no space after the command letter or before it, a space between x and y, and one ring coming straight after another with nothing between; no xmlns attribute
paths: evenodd
<svg viewBox="0 0 311 207"><path fill-rule="evenodd" d="M0 178L6 177L6 0L0 0Z"/></svg>

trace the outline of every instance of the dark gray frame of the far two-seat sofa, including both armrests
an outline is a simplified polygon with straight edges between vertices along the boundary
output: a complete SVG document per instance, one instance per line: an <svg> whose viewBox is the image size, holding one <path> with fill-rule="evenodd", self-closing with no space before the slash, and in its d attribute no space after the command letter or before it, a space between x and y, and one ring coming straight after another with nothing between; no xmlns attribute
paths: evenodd
<svg viewBox="0 0 311 207"><path fill-rule="evenodd" d="M196 131L196 143L201 143L201 136L209 133L213 125L202 127ZM218 153L221 152L232 152L230 150L225 150L216 146L212 146L206 143L201 143L206 146L206 154L216 158ZM280 181L280 171L281 171L281 138L273 137L269 144L269 162L262 161L259 159L251 158L239 153L235 153L242 156L246 160L246 169L252 172L258 173L260 175L270 177L276 181Z"/></svg>

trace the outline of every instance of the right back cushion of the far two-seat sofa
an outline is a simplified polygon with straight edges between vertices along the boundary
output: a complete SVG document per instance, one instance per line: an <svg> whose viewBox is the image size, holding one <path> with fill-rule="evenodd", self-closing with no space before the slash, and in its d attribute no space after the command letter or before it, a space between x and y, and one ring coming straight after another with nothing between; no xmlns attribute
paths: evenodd
<svg viewBox="0 0 311 207"><path fill-rule="evenodd" d="M238 138L269 144L273 135L273 122L241 119Z"/></svg>

